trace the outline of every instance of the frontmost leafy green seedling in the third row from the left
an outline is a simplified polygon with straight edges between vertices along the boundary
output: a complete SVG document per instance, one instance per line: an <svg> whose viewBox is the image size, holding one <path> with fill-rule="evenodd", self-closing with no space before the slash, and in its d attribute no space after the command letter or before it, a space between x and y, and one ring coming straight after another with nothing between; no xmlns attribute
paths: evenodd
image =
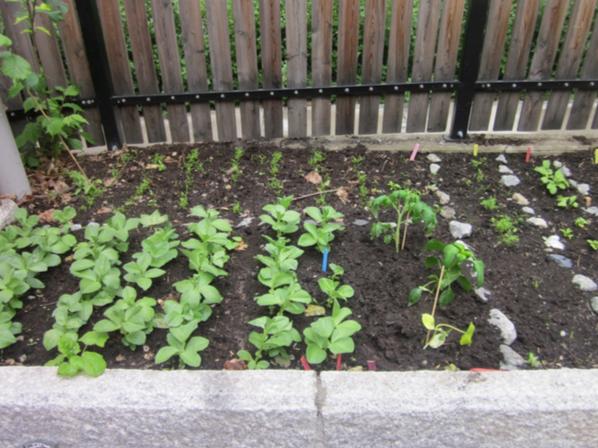
<svg viewBox="0 0 598 448"><path fill-rule="evenodd" d="M137 293L127 286L122 291L122 299L104 312L105 319L97 322L93 331L96 333L120 332L123 344L135 348L145 344L147 335L154 329L154 307L156 301L151 297L137 300Z"/></svg>

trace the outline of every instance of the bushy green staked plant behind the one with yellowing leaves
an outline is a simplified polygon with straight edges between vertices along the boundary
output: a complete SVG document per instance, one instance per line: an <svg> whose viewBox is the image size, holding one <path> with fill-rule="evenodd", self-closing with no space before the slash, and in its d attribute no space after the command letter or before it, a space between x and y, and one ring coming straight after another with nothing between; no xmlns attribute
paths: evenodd
<svg viewBox="0 0 598 448"><path fill-rule="evenodd" d="M409 224L422 223L427 233L433 232L437 224L436 213L421 200L417 191L400 188L394 183L390 184L390 188L392 191L389 194L378 196L370 202L370 211L375 221L370 233L372 239L382 237L387 244L394 241L395 251L398 253L405 248ZM386 210L395 212L393 223L380 221L381 214Z"/></svg>

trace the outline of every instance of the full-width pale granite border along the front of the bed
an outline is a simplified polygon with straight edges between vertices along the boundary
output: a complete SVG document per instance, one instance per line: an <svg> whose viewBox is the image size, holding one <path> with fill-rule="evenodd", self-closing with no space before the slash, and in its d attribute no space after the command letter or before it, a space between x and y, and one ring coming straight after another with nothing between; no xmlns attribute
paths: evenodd
<svg viewBox="0 0 598 448"><path fill-rule="evenodd" d="M0 368L0 446L591 447L598 370ZM35 446L35 445L29 445Z"/></svg>

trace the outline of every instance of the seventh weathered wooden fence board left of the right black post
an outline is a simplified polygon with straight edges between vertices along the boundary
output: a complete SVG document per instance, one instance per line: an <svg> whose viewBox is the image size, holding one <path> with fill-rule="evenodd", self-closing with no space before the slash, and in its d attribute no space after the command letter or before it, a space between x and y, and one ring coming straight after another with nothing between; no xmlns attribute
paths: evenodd
<svg viewBox="0 0 598 448"><path fill-rule="evenodd" d="M288 84L291 88L305 87L307 78L307 1L286 0L286 16ZM306 101L289 98L287 108L289 137L307 136Z"/></svg>

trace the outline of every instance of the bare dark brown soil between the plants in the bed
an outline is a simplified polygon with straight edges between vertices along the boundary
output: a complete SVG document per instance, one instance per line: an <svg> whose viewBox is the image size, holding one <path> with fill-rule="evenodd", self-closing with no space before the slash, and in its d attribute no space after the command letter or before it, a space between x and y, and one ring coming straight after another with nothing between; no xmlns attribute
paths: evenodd
<svg viewBox="0 0 598 448"><path fill-rule="evenodd" d="M177 226L181 238L187 237L184 223L188 222L187 210L179 206L180 191L184 175L182 161L192 148L199 148L204 162L205 174L198 174L189 194L191 206L204 204L219 208L235 224L243 217L255 217L247 228L236 233L247 243L245 251L234 252L227 265L230 275L217 282L224 296L222 304L216 306L211 319L200 326L199 333L210 340L210 346L202 353L202 368L220 369L226 360L234 358L241 348L250 348L247 337L251 331L248 321L263 314L254 297L264 292L256 279L259 265L255 255L262 249L264 227L259 226L261 208L276 198L268 187L269 163L272 152L277 148L267 144L253 144L246 147L241 160L242 175L232 183L227 171L230 168L233 147L230 145L157 146L134 151L134 161L122 170L120 180L106 189L104 195L90 210L81 210L77 222L86 224L90 220L102 221L109 216L106 208L114 209L124 204L145 175L151 184L147 192L126 213L136 216L151 212L157 204L162 213L167 213ZM146 169L156 153L167 156L164 172ZM481 151L483 154L483 150ZM368 212L360 201L357 188L356 169L353 156L365 156L359 167L367 177L367 186L378 194L388 181L411 185L420 190L436 184L450 194L451 206L457 211L457 220L474 226L473 235L467 240L479 258L486 263L486 287L492 291L489 303L484 304L475 296L459 293L455 302L439 312L439 319L465 327L472 321L477 330L471 347L459 347L453 335L439 350L423 350L425 333L420 315L429 312L431 300L422 300L416 306L407 306L411 288L424 283L430 272L423 267L425 237L419 229L410 231L407 249L395 254L391 246L382 241L372 241L369 226L353 225L356 219L368 219ZM284 194L299 197L317 191L304 176L311 171L308 159L311 150L284 149L281 171L278 176L284 183ZM112 169L118 165L122 154L112 153L84 159L84 167L94 177L108 180ZM356 352L343 358L345 367L366 366L374 360L381 370L443 369L454 364L460 369L475 367L498 368L501 355L498 332L486 322L492 308L503 311L515 323L518 338L513 348L524 357L533 352L546 367L590 368L598 366L598 351L595 341L598 319L588 306L591 294L578 291L571 283L574 273L585 274L596 280L598 274L598 252L591 251L585 240L598 239L596 219L586 230L573 225L580 210L562 210L555 207L555 200L548 196L533 172L533 164L525 164L523 155L507 156L509 166L520 176L522 183L516 189L503 187L499 180L496 155L481 156L484 161L484 179L476 179L470 155L441 155L442 168L436 177L430 175L425 154L416 162L409 162L405 153L366 153L364 148L348 148L344 151L326 154L323 174L331 178L331 188L345 187L348 202L343 203L335 194L327 195L328 202L345 214L347 229L338 235L333 243L331 261L345 268L345 281L351 284L356 295L348 302L354 317L363 330L356 336ZM561 156L558 158L573 172L573 178L591 185L591 192L598 191L598 168L591 164L589 152ZM534 160L538 162L538 160ZM108 182L110 183L110 182ZM499 214L512 217L527 216L511 201L511 195L518 191L531 201L538 215L546 219L549 229L537 229L525 223L520 226L520 242L514 247L499 244L499 238L490 225L490 219ZM55 206L45 192L28 204L32 212L42 212ZM480 206L480 199L496 196L501 209L488 212ZM55 200L56 198L54 198ZM424 199L436 201L431 192ZM240 203L242 216L233 213L233 206ZM584 201L580 197L580 201ZM73 196L73 203L81 206L81 198ZM315 204L315 197L296 202L302 209ZM103 210L102 210L103 209ZM590 218L589 215L585 215ZM542 236L559 233L564 227L574 229L575 238L567 241L564 255L575 262L573 270L562 269L546 259ZM448 222L439 217L436 237L450 241ZM130 254L139 250L142 235L131 243ZM299 276L302 285L315 297L321 297L317 288L320 273L320 257L308 249L300 259ZM189 276L184 257L168 265L168 275L155 283L148 295L165 298L173 293L171 285ZM47 287L26 300L26 306L17 320L23 323L23 341L4 350L1 362L19 362L39 365L51 359L41 345L41 338L53 322L52 311L58 297L77 290L77 281L68 272L68 263L55 268L42 277ZM101 317L97 310L92 321ZM302 329L311 319L294 317L296 327ZM118 337L113 336L103 351L110 367L155 368L153 354L164 344L165 332L155 330L148 341L148 352L139 349L132 352L125 348ZM298 358L303 346L297 346L292 368L300 368ZM331 360L322 368L333 369Z"/></svg>

